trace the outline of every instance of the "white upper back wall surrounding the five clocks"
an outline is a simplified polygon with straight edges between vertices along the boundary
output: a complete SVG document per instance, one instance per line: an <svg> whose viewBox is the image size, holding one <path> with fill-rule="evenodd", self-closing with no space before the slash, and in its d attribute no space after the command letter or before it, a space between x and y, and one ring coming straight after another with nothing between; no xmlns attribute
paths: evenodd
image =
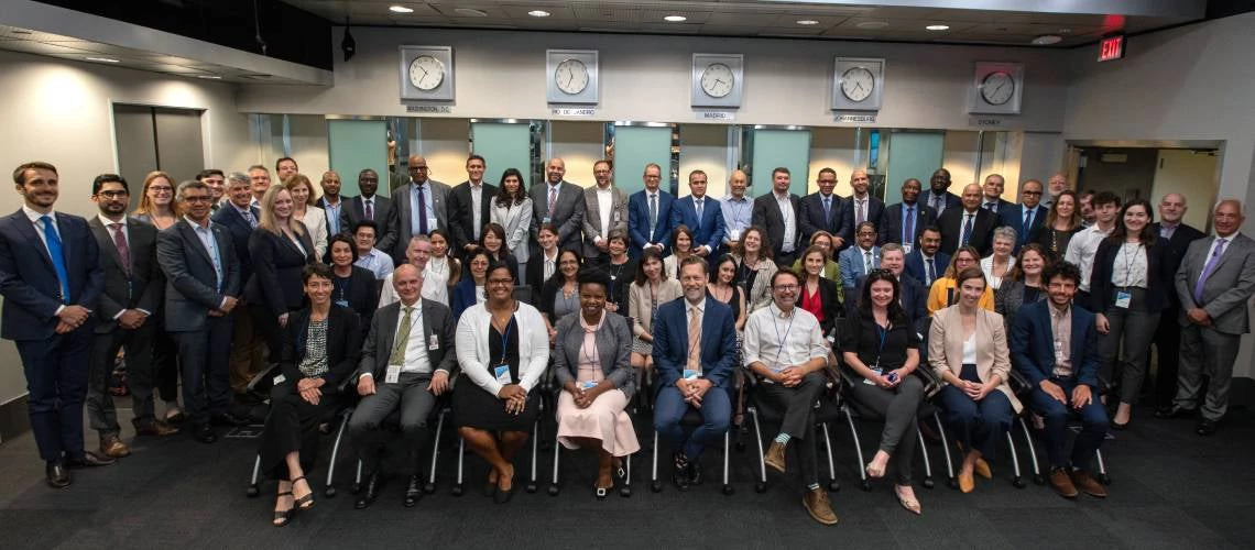
<svg viewBox="0 0 1255 550"><path fill-rule="evenodd" d="M340 31L333 40L336 48ZM833 125L828 110L835 55L886 59L882 128L969 128L975 61L1023 61L1022 117L1008 128L1058 130L1067 98L1069 55L1029 48L945 46L817 40L720 39L599 34L370 29L358 53L335 60L329 89L243 86L240 108L255 113L404 115L398 46L453 46L457 100L448 117L551 118L545 103L545 50L596 49L601 103L597 120L695 120L689 105L694 53L745 56L745 96L738 124ZM1004 128L1005 129L1005 128Z"/></svg>

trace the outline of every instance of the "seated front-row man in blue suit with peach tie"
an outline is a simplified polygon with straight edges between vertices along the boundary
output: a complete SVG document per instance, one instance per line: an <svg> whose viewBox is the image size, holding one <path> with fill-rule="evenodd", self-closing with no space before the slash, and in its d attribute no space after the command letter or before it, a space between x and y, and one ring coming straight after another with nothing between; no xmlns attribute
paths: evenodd
<svg viewBox="0 0 1255 550"><path fill-rule="evenodd" d="M680 491L702 482L702 450L719 441L732 420L735 323L730 307L707 297L707 281L705 261L684 258L684 297L660 306L654 321L659 377L654 428L675 449L671 481ZM680 421L690 408L702 415L703 423L685 437Z"/></svg>

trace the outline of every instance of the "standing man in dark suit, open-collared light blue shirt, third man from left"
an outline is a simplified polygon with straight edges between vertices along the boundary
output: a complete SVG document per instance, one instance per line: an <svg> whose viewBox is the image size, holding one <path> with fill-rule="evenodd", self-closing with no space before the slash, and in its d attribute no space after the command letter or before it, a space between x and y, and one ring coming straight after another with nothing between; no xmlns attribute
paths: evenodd
<svg viewBox="0 0 1255 550"><path fill-rule="evenodd" d="M243 423L230 411L231 311L240 296L240 258L231 236L210 222L210 189L178 185L183 218L157 234L157 262L166 273L166 332L178 342L183 407L192 436L217 441L210 422ZM242 313L242 312L241 312Z"/></svg>

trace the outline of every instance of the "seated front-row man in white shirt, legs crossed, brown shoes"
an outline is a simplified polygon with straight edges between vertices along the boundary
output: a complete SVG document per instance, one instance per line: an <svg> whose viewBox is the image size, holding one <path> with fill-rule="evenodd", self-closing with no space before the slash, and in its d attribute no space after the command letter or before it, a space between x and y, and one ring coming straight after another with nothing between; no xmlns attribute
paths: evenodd
<svg viewBox="0 0 1255 550"><path fill-rule="evenodd" d="M763 461L773 470L787 471L786 451L791 442L801 457L803 504L816 521L837 522L828 492L816 474L814 402L823 392L823 368L828 343L820 321L796 307L801 279L788 269L772 276L772 303L749 314L745 322L744 360L759 383L757 397L784 411L781 432L772 440Z"/></svg>

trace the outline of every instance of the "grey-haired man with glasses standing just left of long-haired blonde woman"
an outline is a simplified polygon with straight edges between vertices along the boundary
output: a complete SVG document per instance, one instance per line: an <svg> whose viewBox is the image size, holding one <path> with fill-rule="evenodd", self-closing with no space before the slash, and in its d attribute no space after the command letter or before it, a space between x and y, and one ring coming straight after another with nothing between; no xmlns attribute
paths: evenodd
<svg viewBox="0 0 1255 550"><path fill-rule="evenodd" d="M232 173L227 178L227 200L222 208L212 215L213 223L226 228L231 236L231 248L236 258L240 259L240 284L241 288L252 277L252 258L248 256L248 237L257 228L261 221L261 209L250 205L252 192L248 178L241 173ZM247 303L241 303L247 306ZM248 382L255 375L266 370L266 340L261 332L254 329L252 316L248 308L236 308L232 316L231 332L231 391L243 395L248 390Z"/></svg>

